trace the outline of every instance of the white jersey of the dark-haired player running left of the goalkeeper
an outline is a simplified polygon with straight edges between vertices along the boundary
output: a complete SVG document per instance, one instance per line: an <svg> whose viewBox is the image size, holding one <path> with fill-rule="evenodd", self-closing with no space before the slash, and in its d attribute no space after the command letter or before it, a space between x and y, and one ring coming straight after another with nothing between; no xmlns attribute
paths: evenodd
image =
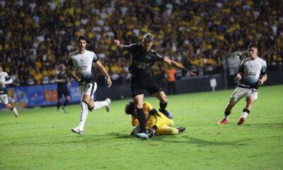
<svg viewBox="0 0 283 170"><path fill-rule="evenodd" d="M69 65L76 69L76 74L81 77L79 84L88 84L96 81L93 75L93 62L97 62L98 57L94 52L86 50L83 54L79 51L69 55Z"/></svg>

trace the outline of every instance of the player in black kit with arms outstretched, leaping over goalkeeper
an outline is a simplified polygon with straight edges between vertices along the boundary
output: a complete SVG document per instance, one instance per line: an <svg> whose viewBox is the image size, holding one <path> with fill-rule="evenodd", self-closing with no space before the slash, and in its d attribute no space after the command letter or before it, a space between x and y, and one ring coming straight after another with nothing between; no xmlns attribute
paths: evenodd
<svg viewBox="0 0 283 170"><path fill-rule="evenodd" d="M141 139L147 140L149 134L146 132L146 118L143 111L143 100L144 100L144 90L148 91L149 94L155 96L160 101L159 106L161 113L164 113L168 118L173 118L171 113L166 111L166 106L168 103L166 94L163 89L161 89L156 80L152 75L152 66L155 62L166 62L172 64L173 66L184 69L190 76L195 76L193 72L183 67L178 62L170 60L168 57L161 55L161 53L153 50L151 46L154 42L154 36L150 33L144 35L141 44L131 44L122 45L120 40L114 40L117 47L122 50L128 50L132 54L132 64L129 66L129 72L131 73L131 91L132 98L137 108L137 116L139 120L139 125L141 125L141 131L136 135ZM154 130L150 130L154 132Z"/></svg>

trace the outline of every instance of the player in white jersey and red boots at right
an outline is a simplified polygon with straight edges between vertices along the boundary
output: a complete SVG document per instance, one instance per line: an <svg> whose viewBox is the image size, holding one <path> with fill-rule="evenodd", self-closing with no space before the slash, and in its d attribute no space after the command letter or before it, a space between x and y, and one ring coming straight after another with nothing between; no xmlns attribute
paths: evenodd
<svg viewBox="0 0 283 170"><path fill-rule="evenodd" d="M248 45L248 55L249 57L244 59L240 64L236 77L236 80L239 81L238 87L233 91L224 112L225 117L218 123L219 125L228 123L233 106L235 106L241 98L246 97L246 106L243 108L243 113L238 120L238 125L242 125L250 113L253 102L258 98L258 86L262 85L267 80L266 62L258 57L258 46L254 43L250 43L250 45Z"/></svg>

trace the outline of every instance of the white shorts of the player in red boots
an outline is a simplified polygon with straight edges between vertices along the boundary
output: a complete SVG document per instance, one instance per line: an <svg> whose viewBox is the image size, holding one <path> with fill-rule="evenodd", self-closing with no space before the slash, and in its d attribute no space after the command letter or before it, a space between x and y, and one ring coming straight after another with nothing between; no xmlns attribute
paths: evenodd
<svg viewBox="0 0 283 170"><path fill-rule="evenodd" d="M230 97L231 101L238 102L240 101L243 97L250 97L253 96L255 98L255 101L258 99L258 90L257 89L246 89L246 88L241 88L237 87L234 91L233 94Z"/></svg>

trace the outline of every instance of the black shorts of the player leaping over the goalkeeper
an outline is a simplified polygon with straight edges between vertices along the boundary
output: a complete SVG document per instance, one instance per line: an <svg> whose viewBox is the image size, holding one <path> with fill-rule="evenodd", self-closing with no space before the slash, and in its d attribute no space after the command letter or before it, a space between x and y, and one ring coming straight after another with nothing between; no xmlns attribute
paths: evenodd
<svg viewBox="0 0 283 170"><path fill-rule="evenodd" d="M149 94L163 91L163 89L158 86L154 77L131 77L132 97L144 94L144 90L148 91Z"/></svg>

